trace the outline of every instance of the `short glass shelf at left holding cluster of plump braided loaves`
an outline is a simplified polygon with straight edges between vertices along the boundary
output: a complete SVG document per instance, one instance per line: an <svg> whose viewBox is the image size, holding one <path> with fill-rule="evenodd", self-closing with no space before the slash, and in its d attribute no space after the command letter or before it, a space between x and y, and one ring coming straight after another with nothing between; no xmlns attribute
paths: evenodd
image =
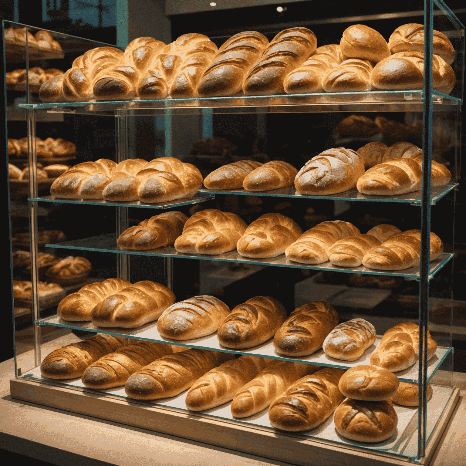
<svg viewBox="0 0 466 466"><path fill-rule="evenodd" d="M42 196L39 198L28 198L29 201L37 202L55 202L59 204L81 204L91 206L111 206L111 207L146 207L149 209L173 209L175 207L190 206L191 204L199 204L211 199L215 199L213 193L197 192L191 199L175 199L173 201L161 202L159 204L146 204L141 201L129 202L111 202L104 199L60 199L53 196Z"/></svg>

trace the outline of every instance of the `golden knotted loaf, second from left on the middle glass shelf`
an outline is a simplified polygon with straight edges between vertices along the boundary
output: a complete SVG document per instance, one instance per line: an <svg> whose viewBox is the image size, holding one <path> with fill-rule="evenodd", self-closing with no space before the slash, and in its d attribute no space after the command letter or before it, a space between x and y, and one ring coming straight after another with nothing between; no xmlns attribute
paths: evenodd
<svg viewBox="0 0 466 466"><path fill-rule="evenodd" d="M187 254L223 254L236 248L246 228L244 220L234 213L206 209L186 221L175 249Z"/></svg>

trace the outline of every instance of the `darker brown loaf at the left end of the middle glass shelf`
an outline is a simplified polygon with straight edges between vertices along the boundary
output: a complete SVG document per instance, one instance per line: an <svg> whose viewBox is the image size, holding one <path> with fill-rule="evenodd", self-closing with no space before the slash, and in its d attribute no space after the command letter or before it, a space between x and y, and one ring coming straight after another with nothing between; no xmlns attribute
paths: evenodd
<svg viewBox="0 0 466 466"><path fill-rule="evenodd" d="M172 245L183 233L188 217L182 212L164 212L130 226L117 239L125 249L142 251Z"/></svg>

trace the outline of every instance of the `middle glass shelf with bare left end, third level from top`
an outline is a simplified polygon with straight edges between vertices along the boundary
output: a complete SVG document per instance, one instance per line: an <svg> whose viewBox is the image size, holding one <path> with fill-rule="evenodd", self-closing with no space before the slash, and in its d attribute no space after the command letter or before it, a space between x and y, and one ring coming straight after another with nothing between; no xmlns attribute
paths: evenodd
<svg viewBox="0 0 466 466"><path fill-rule="evenodd" d="M89 245L93 245L90 247ZM102 253L117 253L117 254L133 254L142 256L156 256L156 257L177 257L184 259L200 259L200 260L219 260L226 262L238 262L241 264L257 264L262 266L275 266L275 267L294 267L294 268L308 268L311 270L322 270L322 271L338 271L349 274L369 274L369 275L389 275L404 277L411 280L419 280L419 267L411 267L404 270L373 270L364 266L359 267L337 267L332 265L329 261L319 265L306 265L300 264L299 262L293 262L285 257L285 254L281 254L278 257L269 259L249 259L238 254L238 251L234 249L228 253L217 254L217 255L206 255L206 254L184 254L178 253L178 251L172 247L159 247L158 249L151 249L149 251L130 251L128 249L122 249L117 246L116 233L106 233L99 236L93 236L90 238L83 238L81 240L64 241L62 243L47 244L45 247L62 248L62 249L75 249L81 251L96 251ZM429 280L453 257L453 254L443 253L430 263L430 275Z"/></svg>

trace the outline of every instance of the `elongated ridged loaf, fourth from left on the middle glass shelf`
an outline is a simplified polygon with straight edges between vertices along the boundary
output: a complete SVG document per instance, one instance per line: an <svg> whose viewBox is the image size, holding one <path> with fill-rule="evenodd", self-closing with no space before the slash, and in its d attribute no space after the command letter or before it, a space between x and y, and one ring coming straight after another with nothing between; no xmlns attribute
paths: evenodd
<svg viewBox="0 0 466 466"><path fill-rule="evenodd" d="M336 241L355 236L361 232L349 222L330 220L310 228L290 246L285 254L290 260L302 264L322 264L327 262L327 250Z"/></svg>

